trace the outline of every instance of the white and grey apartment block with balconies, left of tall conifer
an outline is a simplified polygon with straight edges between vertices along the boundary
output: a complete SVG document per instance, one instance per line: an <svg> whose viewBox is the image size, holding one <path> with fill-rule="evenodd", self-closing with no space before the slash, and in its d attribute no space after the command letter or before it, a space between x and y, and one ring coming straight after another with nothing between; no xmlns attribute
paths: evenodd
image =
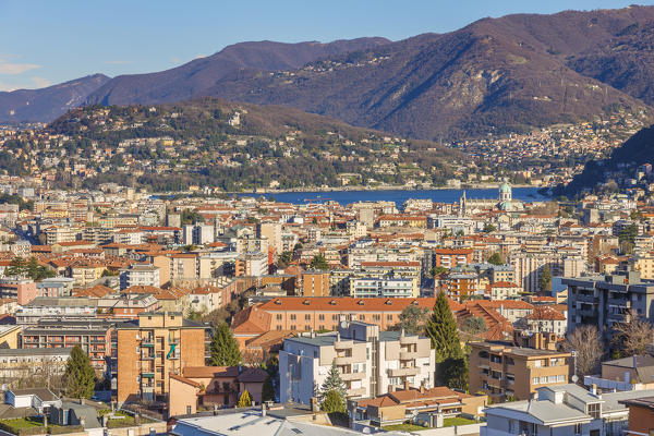
<svg viewBox="0 0 654 436"><path fill-rule="evenodd" d="M376 397L398 386L434 386L435 355L428 338L379 331L361 322L338 332L288 338L279 352L280 401L311 403L335 364L348 398Z"/></svg>

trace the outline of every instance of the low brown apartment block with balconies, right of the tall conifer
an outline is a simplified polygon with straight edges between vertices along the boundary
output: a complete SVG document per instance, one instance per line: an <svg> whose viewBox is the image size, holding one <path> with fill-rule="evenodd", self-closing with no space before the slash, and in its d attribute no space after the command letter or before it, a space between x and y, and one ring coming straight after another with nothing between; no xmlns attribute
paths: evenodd
<svg viewBox="0 0 654 436"><path fill-rule="evenodd" d="M529 400L538 388L568 383L570 353L501 342L472 342L470 347L470 391L485 392L494 402Z"/></svg>

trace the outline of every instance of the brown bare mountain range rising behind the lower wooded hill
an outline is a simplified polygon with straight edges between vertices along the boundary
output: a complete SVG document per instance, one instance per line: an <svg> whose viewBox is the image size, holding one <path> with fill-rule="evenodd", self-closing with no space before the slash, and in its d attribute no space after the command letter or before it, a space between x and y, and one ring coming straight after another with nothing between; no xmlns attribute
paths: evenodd
<svg viewBox="0 0 654 436"><path fill-rule="evenodd" d="M407 137L461 138L619 109L654 113L653 49L654 7L635 5L483 19L399 41L244 43L162 72L97 76L95 88L58 89L58 100L39 99L55 87L0 93L0 122L50 121L69 101L214 96L294 107Z"/></svg>

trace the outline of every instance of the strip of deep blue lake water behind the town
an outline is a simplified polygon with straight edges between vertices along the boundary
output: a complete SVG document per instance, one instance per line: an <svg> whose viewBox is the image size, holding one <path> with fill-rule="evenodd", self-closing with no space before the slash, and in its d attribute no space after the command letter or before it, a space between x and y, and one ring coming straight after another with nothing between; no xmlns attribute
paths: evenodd
<svg viewBox="0 0 654 436"><path fill-rule="evenodd" d="M389 191L330 191L330 192L280 192L274 194L240 194L242 196L274 197L277 202L306 204L308 201L323 203L335 201L342 205L356 202L395 202L398 207L409 198L429 198L436 203L458 202L463 190L389 190ZM465 190L468 198L497 198L497 189ZM547 197L538 194L537 187L513 187L513 198L525 203L546 201Z"/></svg>

